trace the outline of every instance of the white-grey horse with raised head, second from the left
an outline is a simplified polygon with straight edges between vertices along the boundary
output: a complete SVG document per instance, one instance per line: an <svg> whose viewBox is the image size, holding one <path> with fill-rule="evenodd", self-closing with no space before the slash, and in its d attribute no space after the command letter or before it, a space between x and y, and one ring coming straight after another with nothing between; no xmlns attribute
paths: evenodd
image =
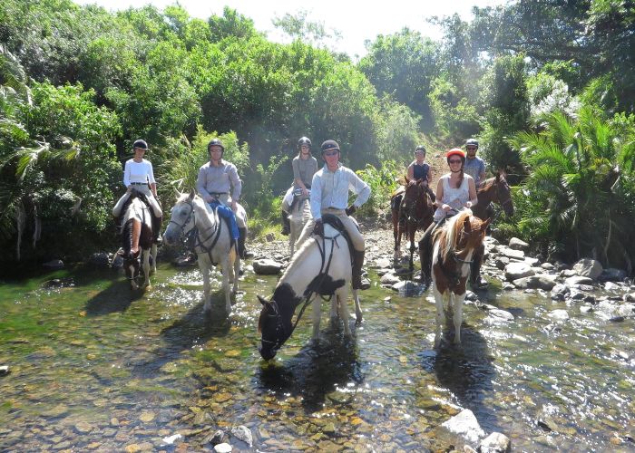
<svg viewBox="0 0 635 453"><path fill-rule="evenodd" d="M238 205L236 216L247 225L247 213ZM211 310L210 269L212 265L222 267L222 290L225 293L225 311L231 313L231 292L239 287L240 258L232 244L230 228L218 214L192 189L190 194L180 194L171 210L170 224L163 234L165 244L171 246L196 228L194 251L198 257L200 273L203 275L204 310Z"/></svg>

